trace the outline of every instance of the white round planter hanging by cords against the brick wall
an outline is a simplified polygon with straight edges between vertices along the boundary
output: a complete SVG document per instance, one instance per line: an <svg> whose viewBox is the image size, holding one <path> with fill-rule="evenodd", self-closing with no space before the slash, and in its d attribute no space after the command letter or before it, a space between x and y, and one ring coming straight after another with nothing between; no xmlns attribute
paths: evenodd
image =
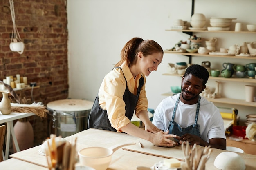
<svg viewBox="0 0 256 170"><path fill-rule="evenodd" d="M9 2L10 2L10 10L11 10L11 20L13 22L10 49L11 49L11 51L18 52L19 54L22 54L24 51L25 45L20 38L20 34L19 34L18 29L15 24L15 13L14 13L13 0L9 0Z"/></svg>

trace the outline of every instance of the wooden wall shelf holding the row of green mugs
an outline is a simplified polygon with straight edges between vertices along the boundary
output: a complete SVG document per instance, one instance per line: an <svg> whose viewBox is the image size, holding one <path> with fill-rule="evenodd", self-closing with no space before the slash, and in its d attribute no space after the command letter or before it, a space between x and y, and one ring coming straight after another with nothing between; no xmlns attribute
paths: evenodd
<svg viewBox="0 0 256 170"><path fill-rule="evenodd" d="M178 77L182 77L183 76L183 75L180 75L180 74L171 74L171 73L163 73L162 75L172 75L172 76L178 76ZM219 80L219 81L256 83L256 79L249 79L249 78L225 78L225 77L212 77L212 76L209 76L209 79Z"/></svg>

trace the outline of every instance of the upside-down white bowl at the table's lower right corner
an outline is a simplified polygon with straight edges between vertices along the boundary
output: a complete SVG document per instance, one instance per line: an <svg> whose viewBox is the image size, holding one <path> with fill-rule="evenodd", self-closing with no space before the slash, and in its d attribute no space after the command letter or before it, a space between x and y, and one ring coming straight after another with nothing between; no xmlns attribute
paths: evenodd
<svg viewBox="0 0 256 170"><path fill-rule="evenodd" d="M235 152L222 152L214 160L213 165L221 170L245 170L245 161Z"/></svg>

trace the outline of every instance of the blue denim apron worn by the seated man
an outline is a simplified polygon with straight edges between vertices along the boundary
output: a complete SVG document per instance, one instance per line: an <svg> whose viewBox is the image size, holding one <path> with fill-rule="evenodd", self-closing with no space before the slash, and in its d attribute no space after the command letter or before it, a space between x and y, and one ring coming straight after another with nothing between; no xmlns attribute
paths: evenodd
<svg viewBox="0 0 256 170"><path fill-rule="evenodd" d="M169 124L169 134L182 136L186 133L189 133L189 134L197 135L197 136L201 137L201 135L200 135L200 126L199 126L199 124L197 124L201 96L199 96L199 98L198 98L198 104L197 104L196 115L195 115L195 124L192 124L192 125L190 125L186 128L182 128L179 124L177 124L177 122L174 121L174 117L175 117L175 113L176 113L176 110L177 110L179 100L180 100L180 95L179 95L179 97L178 97L178 99L175 103L175 106L174 106L173 117L172 117L172 120L170 121L170 124Z"/></svg>

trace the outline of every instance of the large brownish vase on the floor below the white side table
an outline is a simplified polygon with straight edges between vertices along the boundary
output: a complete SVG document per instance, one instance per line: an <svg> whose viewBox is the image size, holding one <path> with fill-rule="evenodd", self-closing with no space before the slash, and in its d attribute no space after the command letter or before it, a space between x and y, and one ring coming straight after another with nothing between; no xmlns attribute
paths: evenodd
<svg viewBox="0 0 256 170"><path fill-rule="evenodd" d="M34 145L34 130L29 121L18 120L13 127L20 151L32 148ZM13 150L17 152L13 142Z"/></svg>

